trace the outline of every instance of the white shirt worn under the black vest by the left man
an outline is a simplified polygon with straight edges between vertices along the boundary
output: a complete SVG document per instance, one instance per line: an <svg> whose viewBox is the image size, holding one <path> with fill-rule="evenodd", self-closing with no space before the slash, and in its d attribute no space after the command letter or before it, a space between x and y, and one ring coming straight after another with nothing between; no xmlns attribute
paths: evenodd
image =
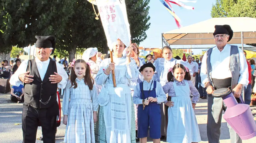
<svg viewBox="0 0 256 143"><path fill-rule="evenodd" d="M42 62L38 58L35 58L35 61L36 61L36 67L38 69L39 75L41 77L41 80L43 81L44 75L47 71L47 68L48 68L48 65L49 65L49 62L50 62L50 59ZM55 63L56 63L56 66L57 66L57 72L62 77L61 82L58 83L58 87L61 88L61 89L64 89L66 87L66 84L67 84L68 75L65 72L63 66L61 66L58 62L55 62ZM25 60L24 62L22 62L20 64L20 66L16 70L15 74L13 74L11 76L11 79L10 79L10 84L11 85L15 85L16 87L20 86L20 84L22 82L19 80L19 75L26 72L27 66L28 66L28 60Z"/></svg>

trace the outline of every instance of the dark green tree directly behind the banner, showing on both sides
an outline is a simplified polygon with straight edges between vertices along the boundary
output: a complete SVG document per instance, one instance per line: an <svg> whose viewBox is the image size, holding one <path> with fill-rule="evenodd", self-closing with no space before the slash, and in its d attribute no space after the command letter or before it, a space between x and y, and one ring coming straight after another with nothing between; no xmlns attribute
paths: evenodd
<svg viewBox="0 0 256 143"><path fill-rule="evenodd" d="M127 17L130 24L131 40L139 44L146 39L145 31L148 20L149 0L128 0L126 2ZM97 47L102 53L108 52L107 40L100 20L95 20L92 4L84 0L76 0L74 13L66 23L66 30L58 39L58 47L69 52L69 62L75 58L77 48ZM95 6L98 11L97 6Z"/></svg>

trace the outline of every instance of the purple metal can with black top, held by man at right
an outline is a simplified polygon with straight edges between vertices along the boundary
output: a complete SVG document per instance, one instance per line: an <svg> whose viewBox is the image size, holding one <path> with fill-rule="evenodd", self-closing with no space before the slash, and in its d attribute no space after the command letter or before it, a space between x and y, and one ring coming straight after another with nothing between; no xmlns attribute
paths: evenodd
<svg viewBox="0 0 256 143"><path fill-rule="evenodd" d="M233 93L228 88L221 88L212 92L213 97L222 98L227 106L223 115L227 123L236 131L242 140L247 140L256 136L256 125L251 113L250 106L243 103L238 104Z"/></svg>

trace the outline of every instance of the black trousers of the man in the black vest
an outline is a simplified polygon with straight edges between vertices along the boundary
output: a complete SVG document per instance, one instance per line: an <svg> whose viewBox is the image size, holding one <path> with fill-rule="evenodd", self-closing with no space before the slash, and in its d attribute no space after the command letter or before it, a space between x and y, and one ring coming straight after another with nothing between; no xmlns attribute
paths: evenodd
<svg viewBox="0 0 256 143"><path fill-rule="evenodd" d="M30 105L23 104L23 111L22 111L23 143L36 142L36 132L37 132L39 122L42 127L42 133L44 134L44 143L55 143L57 115L53 115L49 113L51 110L55 110L51 108L56 108L56 106L40 109L40 108L34 108Z"/></svg>

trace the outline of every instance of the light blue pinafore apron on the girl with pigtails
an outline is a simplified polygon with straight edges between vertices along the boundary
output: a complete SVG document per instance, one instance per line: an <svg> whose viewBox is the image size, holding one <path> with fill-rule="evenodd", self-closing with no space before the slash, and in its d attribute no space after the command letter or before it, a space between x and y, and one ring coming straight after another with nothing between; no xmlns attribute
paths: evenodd
<svg viewBox="0 0 256 143"><path fill-rule="evenodd" d="M168 108L168 128L166 141L170 143L200 142L201 137L194 109L189 97L189 85L177 86L173 82L176 97L172 97L174 107Z"/></svg>

